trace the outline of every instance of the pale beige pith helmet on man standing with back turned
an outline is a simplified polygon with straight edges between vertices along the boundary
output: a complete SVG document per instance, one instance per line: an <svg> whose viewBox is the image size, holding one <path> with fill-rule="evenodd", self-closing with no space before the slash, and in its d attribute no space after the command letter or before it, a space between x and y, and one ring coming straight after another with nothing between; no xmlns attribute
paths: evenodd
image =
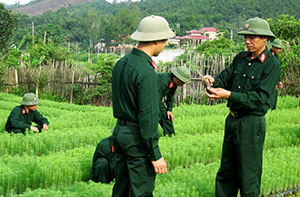
<svg viewBox="0 0 300 197"><path fill-rule="evenodd" d="M156 41L175 37L169 23L161 16L147 16L140 21L138 29L131 34L137 41Z"/></svg>

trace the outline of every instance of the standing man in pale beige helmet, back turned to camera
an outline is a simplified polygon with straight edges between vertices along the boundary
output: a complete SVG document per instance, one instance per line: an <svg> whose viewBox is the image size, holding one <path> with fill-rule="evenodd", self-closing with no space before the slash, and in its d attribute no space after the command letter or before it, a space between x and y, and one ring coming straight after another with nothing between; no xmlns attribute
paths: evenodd
<svg viewBox="0 0 300 197"><path fill-rule="evenodd" d="M113 196L152 196L156 173L167 172L158 146L159 90L152 56L174 36L163 17L145 17L131 35L139 42L137 48L112 71L113 114L117 118Z"/></svg>

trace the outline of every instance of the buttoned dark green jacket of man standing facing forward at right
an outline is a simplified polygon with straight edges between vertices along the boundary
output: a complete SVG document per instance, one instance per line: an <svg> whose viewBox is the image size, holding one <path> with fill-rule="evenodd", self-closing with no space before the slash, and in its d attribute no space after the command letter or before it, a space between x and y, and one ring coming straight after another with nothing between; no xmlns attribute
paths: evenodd
<svg viewBox="0 0 300 197"><path fill-rule="evenodd" d="M213 87L231 91L227 106L231 111L264 115L271 107L280 78L279 61L266 48L255 59L241 52L233 63L215 77Z"/></svg>

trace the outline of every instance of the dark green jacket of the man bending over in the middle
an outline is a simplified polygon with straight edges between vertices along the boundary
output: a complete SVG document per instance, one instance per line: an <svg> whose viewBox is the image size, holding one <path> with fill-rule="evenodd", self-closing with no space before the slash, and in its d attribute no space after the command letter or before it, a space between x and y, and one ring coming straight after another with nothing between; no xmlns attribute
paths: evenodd
<svg viewBox="0 0 300 197"><path fill-rule="evenodd" d="M172 111L173 103L174 103L174 94L176 92L177 86L173 82L173 74L172 73L160 73L159 77L159 93L160 93L160 108L164 108L165 105L162 102L162 98L167 96L165 100L165 104L167 107L167 111Z"/></svg>

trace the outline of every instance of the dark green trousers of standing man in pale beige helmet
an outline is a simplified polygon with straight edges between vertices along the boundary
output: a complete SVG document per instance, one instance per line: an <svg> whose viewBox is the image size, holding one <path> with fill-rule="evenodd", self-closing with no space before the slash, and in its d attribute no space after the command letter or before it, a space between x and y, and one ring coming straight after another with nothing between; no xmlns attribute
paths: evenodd
<svg viewBox="0 0 300 197"><path fill-rule="evenodd" d="M117 125L113 144L116 176L113 196L152 196L156 174L138 127Z"/></svg>

